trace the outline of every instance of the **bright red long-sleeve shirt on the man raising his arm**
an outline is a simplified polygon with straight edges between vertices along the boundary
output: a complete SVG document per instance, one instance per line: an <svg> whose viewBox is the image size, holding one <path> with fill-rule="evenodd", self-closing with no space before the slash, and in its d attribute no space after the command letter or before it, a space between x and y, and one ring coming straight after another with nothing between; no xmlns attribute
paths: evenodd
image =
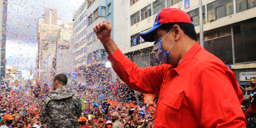
<svg viewBox="0 0 256 128"><path fill-rule="evenodd" d="M108 59L130 88L159 97L154 128L246 128L236 77L199 43L178 66L139 68L119 49Z"/></svg>

